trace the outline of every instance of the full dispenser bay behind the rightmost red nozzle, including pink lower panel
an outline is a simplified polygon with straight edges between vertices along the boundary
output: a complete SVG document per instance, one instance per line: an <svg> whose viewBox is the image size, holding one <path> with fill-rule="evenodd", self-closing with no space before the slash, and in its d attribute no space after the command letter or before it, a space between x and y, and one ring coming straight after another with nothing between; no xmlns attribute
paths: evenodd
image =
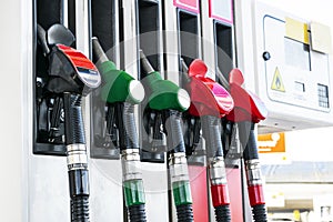
<svg viewBox="0 0 333 222"><path fill-rule="evenodd" d="M201 1L203 60L209 68L208 77L229 90L229 73L236 65L235 6L233 0ZM230 193L232 221L243 221L242 150L238 142L238 125L221 118L222 144Z"/></svg>

